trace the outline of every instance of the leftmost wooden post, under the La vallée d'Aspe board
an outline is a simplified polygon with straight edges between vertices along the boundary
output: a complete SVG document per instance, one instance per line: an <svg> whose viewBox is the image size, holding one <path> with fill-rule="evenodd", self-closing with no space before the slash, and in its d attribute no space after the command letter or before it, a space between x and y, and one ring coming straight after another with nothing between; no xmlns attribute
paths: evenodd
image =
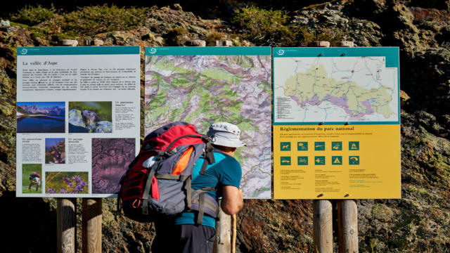
<svg viewBox="0 0 450 253"><path fill-rule="evenodd" d="M57 252L75 253L76 199L58 198L56 209Z"/></svg>

